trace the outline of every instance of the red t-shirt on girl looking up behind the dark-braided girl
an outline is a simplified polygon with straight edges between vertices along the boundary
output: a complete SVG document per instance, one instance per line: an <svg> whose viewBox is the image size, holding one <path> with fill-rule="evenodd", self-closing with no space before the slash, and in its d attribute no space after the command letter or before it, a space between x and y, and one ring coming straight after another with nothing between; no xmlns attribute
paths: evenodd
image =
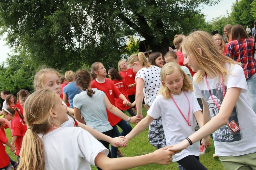
<svg viewBox="0 0 256 170"><path fill-rule="evenodd" d="M109 98L110 103L114 106L116 105L115 98L118 98L118 96L121 94L121 92L115 87L115 84L108 78L105 78L104 83L99 83L96 80L93 80L91 82L91 88L96 88L103 91ZM106 109L106 111L108 114L108 121L110 122L111 126L115 126L122 120L121 118L111 113L108 109Z"/></svg>

